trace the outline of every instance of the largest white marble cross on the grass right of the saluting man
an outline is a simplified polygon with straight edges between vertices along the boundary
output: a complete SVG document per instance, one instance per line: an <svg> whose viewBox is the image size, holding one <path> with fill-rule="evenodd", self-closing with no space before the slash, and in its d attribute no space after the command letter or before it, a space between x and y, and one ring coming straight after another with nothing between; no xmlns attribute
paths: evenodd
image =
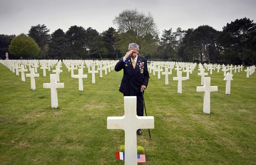
<svg viewBox="0 0 256 165"><path fill-rule="evenodd" d="M204 110L203 112L206 114L210 114L210 102L211 95L210 93L213 91L218 91L218 86L211 86L211 77L204 77L204 86L197 86L197 92L204 92Z"/></svg>

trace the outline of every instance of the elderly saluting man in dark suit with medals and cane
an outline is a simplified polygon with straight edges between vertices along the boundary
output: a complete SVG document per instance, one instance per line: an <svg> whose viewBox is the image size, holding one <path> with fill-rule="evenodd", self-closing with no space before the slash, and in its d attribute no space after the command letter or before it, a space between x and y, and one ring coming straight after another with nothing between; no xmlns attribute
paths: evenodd
<svg viewBox="0 0 256 165"><path fill-rule="evenodd" d="M137 97L137 115L143 116L143 90L148 86L148 65L146 58L139 56L139 45L131 43L128 46L128 52L115 65L115 71L124 70L123 78L119 91L124 96ZM141 135L141 129L137 134Z"/></svg>

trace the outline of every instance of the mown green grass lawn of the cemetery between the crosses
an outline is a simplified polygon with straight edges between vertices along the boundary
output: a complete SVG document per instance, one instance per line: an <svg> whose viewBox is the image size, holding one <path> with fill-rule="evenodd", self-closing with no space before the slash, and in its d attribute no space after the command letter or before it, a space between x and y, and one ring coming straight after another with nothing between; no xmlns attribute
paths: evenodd
<svg viewBox="0 0 256 165"><path fill-rule="evenodd" d="M92 75L70 77L63 65L59 108L51 108L50 90L42 88L47 77L21 81L0 64L0 164L2 165L124 165L115 151L124 144L123 130L107 130L108 116L124 114L123 95L118 91L122 71L114 70L92 84ZM87 70L84 71L87 73ZM51 72L52 73L52 72ZM146 151L145 165L256 165L256 74L236 73L231 95L225 95L223 72L213 71L211 114L203 113L203 93L197 68L183 81L177 93L176 71L165 85L164 76L150 74L144 97L147 113L155 118L155 129L143 129L138 145ZM75 70L74 74L78 74ZM186 73L183 73L185 76Z"/></svg>

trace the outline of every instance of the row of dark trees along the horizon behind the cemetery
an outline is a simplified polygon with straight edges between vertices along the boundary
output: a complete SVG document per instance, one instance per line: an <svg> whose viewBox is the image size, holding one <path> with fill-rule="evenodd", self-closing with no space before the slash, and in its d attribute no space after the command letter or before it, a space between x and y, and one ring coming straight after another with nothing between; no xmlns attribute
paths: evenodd
<svg viewBox="0 0 256 165"><path fill-rule="evenodd" d="M176 31L170 28L164 29L160 37L153 16L137 9L122 11L113 24L117 29L110 27L102 33L91 27L71 26L66 32L59 28L49 34L44 24L31 26L22 37L31 37L38 45L40 51L35 49L34 54L12 50L12 40L21 36L0 35L1 58L5 59L9 51L13 58L26 59L117 59L127 52L129 43L136 42L139 54L149 60L242 65L256 62L256 23L246 17L227 23L222 31L208 25Z"/></svg>

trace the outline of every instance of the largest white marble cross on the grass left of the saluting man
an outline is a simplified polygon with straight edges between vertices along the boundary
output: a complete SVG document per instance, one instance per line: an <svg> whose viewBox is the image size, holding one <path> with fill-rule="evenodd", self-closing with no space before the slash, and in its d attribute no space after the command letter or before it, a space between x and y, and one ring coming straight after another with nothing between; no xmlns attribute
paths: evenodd
<svg viewBox="0 0 256 165"><path fill-rule="evenodd" d="M64 88L64 83L57 83L56 74L50 74L50 83L44 83L43 88L51 89L52 108L58 108L57 88Z"/></svg>

